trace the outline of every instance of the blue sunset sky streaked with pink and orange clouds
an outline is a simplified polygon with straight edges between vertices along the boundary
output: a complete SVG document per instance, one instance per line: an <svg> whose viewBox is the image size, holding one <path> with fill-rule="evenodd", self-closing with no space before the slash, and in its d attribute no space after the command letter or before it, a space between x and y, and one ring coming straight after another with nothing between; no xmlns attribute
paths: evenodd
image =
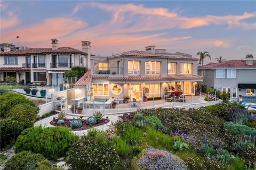
<svg viewBox="0 0 256 170"><path fill-rule="evenodd" d="M256 58L256 1L1 1L1 43L81 49L108 56L156 45L214 58ZM206 60L205 63L210 62Z"/></svg>

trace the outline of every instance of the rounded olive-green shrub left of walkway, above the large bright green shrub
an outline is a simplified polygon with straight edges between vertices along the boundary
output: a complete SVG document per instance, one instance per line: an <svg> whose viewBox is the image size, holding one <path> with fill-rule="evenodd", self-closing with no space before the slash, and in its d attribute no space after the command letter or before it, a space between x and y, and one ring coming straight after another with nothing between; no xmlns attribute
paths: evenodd
<svg viewBox="0 0 256 170"><path fill-rule="evenodd" d="M6 116L21 122L23 128L27 129L31 128L36 122L38 112L38 107L33 107L28 104L18 104L13 106Z"/></svg>

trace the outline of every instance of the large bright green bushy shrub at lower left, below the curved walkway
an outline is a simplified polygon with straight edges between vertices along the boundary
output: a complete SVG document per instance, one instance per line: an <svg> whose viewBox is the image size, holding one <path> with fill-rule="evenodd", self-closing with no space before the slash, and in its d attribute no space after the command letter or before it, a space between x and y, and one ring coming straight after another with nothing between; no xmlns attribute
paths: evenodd
<svg viewBox="0 0 256 170"><path fill-rule="evenodd" d="M24 130L15 143L15 151L31 150L56 160L66 154L68 148L78 139L68 128L42 126Z"/></svg>

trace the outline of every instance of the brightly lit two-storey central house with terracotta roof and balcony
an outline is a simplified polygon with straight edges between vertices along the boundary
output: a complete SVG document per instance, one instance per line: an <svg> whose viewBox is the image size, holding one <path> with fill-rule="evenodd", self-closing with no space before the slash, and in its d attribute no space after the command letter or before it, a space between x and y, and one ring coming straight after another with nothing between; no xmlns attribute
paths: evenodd
<svg viewBox="0 0 256 170"><path fill-rule="evenodd" d="M191 55L171 54L155 46L146 47L146 52L132 50L109 57L93 56L91 70L75 84L77 97L93 93L94 98L128 95L142 99L144 95L163 97L165 92L174 90L192 95L197 82L203 80L197 75L197 62L198 58Z"/></svg>

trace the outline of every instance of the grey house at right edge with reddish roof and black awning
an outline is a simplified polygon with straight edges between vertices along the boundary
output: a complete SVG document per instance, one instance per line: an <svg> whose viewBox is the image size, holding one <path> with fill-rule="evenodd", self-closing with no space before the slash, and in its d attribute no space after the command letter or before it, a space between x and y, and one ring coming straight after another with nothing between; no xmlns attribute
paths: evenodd
<svg viewBox="0 0 256 170"><path fill-rule="evenodd" d="M253 59L252 55L246 55L245 60L209 63L199 66L198 73L204 76L203 84L227 91L230 100L237 101L239 95L256 98L256 60Z"/></svg>

